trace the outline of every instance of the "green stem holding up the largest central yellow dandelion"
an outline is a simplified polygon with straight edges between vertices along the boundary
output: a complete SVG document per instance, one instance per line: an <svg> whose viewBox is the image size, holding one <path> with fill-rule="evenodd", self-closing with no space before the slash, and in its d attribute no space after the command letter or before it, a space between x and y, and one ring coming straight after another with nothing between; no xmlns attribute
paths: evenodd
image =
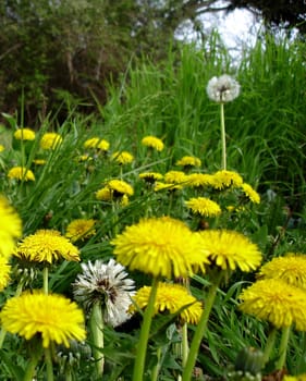
<svg viewBox="0 0 306 381"><path fill-rule="evenodd" d="M151 292L150 292L147 308L144 314L143 324L140 328L140 336L137 345L136 359L134 364L133 381L143 381L147 345L148 345L150 325L151 325L151 320L154 315L154 304L156 299L157 287L158 287L158 279L155 278L152 280Z"/></svg>

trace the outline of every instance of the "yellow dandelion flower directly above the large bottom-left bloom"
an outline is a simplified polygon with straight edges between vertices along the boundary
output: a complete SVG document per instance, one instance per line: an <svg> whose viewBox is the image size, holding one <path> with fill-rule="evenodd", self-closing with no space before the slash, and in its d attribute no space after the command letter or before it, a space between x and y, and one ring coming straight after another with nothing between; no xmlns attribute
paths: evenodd
<svg viewBox="0 0 306 381"><path fill-rule="evenodd" d="M38 230L17 244L14 255L19 258L49 262L63 258L79 261L79 250L56 230Z"/></svg>

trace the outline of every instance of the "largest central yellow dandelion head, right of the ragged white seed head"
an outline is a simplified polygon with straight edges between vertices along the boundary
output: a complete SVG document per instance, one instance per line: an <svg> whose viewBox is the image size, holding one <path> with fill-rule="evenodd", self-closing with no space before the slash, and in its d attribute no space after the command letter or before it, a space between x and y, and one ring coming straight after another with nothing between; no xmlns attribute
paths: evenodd
<svg viewBox="0 0 306 381"><path fill-rule="evenodd" d="M111 244L120 263L154 276L187 276L208 262L198 234L170 217L140 220Z"/></svg>

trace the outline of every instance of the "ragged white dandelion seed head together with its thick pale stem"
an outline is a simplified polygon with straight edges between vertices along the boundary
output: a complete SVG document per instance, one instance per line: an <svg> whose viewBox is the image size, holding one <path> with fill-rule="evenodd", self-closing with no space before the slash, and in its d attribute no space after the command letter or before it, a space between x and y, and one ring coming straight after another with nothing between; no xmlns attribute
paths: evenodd
<svg viewBox="0 0 306 381"><path fill-rule="evenodd" d="M103 324L117 327L130 319L132 315L127 309L135 294L135 284L127 278L125 268L114 259L108 263L96 260L81 266L83 273L73 284L73 294L89 314L96 373L102 377L105 358L100 348L103 347Z"/></svg>

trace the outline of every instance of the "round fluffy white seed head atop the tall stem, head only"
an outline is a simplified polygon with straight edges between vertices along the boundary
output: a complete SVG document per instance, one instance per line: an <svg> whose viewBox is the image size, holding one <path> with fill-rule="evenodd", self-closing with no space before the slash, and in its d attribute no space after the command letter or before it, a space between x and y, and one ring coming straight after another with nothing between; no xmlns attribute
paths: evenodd
<svg viewBox="0 0 306 381"><path fill-rule="evenodd" d="M234 100L240 95L240 84L228 74L212 77L206 88L208 98L218 103Z"/></svg>

